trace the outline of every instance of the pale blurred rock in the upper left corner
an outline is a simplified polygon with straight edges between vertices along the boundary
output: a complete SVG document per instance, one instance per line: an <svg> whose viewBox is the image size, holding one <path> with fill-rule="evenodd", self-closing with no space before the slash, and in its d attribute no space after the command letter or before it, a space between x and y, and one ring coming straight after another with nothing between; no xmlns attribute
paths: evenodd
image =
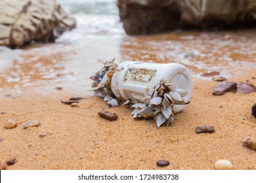
<svg viewBox="0 0 256 183"><path fill-rule="evenodd" d="M20 47L31 41L54 41L75 27L56 0L0 0L0 45Z"/></svg>

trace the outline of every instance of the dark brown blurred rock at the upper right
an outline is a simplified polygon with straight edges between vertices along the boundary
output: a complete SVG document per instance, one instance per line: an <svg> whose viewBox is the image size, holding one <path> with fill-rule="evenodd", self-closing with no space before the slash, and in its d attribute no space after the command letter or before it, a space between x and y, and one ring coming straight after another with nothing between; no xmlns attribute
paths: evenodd
<svg viewBox="0 0 256 183"><path fill-rule="evenodd" d="M127 34L182 27L256 27L256 0L117 0Z"/></svg>

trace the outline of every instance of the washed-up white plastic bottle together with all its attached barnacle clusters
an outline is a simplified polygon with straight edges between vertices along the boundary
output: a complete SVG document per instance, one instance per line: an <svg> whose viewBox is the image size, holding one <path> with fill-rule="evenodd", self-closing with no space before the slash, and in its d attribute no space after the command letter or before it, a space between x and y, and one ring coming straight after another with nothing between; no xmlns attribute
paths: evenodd
<svg viewBox="0 0 256 183"><path fill-rule="evenodd" d="M95 95L110 107L133 104L133 118L154 118L158 127L169 125L192 95L192 78L179 63L145 63L114 59L90 77Z"/></svg>

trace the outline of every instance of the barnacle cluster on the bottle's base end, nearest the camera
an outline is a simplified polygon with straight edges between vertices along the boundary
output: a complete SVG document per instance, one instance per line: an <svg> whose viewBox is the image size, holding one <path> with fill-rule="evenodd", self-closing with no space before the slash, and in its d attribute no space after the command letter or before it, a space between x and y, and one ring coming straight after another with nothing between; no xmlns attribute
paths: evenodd
<svg viewBox="0 0 256 183"><path fill-rule="evenodd" d="M169 125L174 121L173 105L186 105L183 97L188 95L186 90L175 89L173 84L161 80L154 87L152 95L146 95L142 103L132 106L133 118L154 118L158 127Z"/></svg>

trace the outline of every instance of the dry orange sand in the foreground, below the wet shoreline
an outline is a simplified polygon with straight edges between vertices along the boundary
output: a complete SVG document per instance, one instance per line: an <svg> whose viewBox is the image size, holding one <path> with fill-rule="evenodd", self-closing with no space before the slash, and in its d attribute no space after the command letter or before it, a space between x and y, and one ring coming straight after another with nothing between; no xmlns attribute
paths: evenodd
<svg viewBox="0 0 256 183"><path fill-rule="evenodd" d="M255 70L233 76L229 81L256 85ZM251 116L256 92L211 94L218 82L194 78L189 105L175 115L169 127L154 120L133 120L128 107L108 108L99 97L82 99L70 107L61 99L74 97L65 90L37 95L26 88L17 97L2 97L0 109L0 160L16 158L7 169L215 169L218 159L229 159L234 169L256 169L256 152L242 146L247 137L256 138L256 119ZM80 95L81 96L81 95ZM116 121L98 116L101 110L114 112ZM11 118L18 122L5 129ZM39 127L23 129L27 120ZM213 125L214 133L196 133L198 125ZM43 138L42 132L49 132ZM35 154L38 154L37 156ZM156 161L170 165L158 167Z"/></svg>

